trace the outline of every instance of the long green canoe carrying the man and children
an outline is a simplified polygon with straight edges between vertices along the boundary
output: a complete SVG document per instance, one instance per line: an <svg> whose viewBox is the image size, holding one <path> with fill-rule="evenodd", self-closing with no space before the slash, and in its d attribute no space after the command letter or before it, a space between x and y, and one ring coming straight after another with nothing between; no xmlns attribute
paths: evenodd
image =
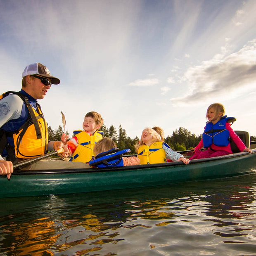
<svg viewBox="0 0 256 256"><path fill-rule="evenodd" d="M13 173L0 177L0 197L26 197L49 194L129 189L231 177L256 172L256 149L190 164L169 162L113 168L44 170Z"/></svg>

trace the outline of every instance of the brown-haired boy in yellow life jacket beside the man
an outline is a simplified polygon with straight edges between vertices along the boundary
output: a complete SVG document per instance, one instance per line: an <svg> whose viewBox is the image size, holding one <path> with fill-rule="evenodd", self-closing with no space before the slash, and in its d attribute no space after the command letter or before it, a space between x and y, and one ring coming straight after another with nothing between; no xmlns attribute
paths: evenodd
<svg viewBox="0 0 256 256"><path fill-rule="evenodd" d="M102 132L98 131L102 127L104 120L97 112L89 112L83 121L83 130L74 130L74 137L67 141L68 136L62 134L62 142L69 149L70 161L88 163L93 156L95 143L102 139Z"/></svg>

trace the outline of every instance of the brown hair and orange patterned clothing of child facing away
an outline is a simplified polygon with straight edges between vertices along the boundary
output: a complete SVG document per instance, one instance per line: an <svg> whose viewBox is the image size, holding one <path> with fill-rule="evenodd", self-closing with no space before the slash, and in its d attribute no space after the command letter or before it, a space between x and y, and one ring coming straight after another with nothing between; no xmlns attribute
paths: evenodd
<svg viewBox="0 0 256 256"><path fill-rule="evenodd" d="M96 143L95 147L93 148L93 152L94 155L97 156L102 152L107 152L114 148L116 148L116 143L113 140L105 137ZM137 164L140 164L140 159L138 159L136 156L123 157L123 166Z"/></svg>

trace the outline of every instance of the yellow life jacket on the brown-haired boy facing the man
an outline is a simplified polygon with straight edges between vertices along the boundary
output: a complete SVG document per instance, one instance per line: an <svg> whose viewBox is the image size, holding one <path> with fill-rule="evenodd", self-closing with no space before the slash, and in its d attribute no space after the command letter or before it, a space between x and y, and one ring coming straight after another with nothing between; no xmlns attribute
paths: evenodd
<svg viewBox="0 0 256 256"><path fill-rule="evenodd" d="M71 161L88 163L92 160L93 148L96 142L102 139L102 132L96 131L93 135L89 135L84 130L74 130L78 140L78 146L72 154Z"/></svg>

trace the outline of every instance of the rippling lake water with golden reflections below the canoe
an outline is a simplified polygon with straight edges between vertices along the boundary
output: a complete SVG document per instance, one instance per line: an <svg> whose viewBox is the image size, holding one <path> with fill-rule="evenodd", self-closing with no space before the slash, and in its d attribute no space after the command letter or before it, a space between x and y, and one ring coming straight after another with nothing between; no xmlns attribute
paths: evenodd
<svg viewBox="0 0 256 256"><path fill-rule="evenodd" d="M0 203L0 256L256 255L256 174Z"/></svg>

